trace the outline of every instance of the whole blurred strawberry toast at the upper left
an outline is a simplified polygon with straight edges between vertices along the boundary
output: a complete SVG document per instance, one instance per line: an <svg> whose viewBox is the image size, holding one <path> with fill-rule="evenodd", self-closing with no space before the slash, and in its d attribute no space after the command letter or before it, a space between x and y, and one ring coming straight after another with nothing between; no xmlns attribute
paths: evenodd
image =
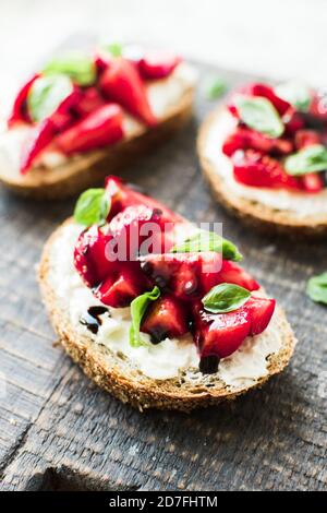
<svg viewBox="0 0 327 513"><path fill-rule="evenodd" d="M63 198L102 181L191 116L194 70L132 45L62 53L20 90L0 132L0 181Z"/></svg>

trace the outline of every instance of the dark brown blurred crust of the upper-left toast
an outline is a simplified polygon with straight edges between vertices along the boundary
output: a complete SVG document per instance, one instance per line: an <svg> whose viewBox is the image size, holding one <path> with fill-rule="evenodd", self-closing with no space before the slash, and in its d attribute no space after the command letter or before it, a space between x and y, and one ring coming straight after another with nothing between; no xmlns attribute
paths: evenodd
<svg viewBox="0 0 327 513"><path fill-rule="evenodd" d="M190 86L179 105L171 107L157 127L147 129L144 126L133 138L106 150L72 157L53 169L40 167L24 176L0 169L0 182L17 194L36 200L63 199L100 184L106 176L118 174L134 163L135 157L145 155L182 128L192 116L193 98L194 90Z"/></svg>

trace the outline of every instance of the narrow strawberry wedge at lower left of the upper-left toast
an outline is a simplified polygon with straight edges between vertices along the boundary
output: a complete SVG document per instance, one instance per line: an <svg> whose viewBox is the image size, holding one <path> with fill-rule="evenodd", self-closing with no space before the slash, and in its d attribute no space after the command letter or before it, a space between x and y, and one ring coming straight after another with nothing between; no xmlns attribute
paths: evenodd
<svg viewBox="0 0 327 513"><path fill-rule="evenodd" d="M51 119L45 119L32 129L21 155L20 170L22 175L28 171L36 157L50 144L56 132L57 128Z"/></svg>

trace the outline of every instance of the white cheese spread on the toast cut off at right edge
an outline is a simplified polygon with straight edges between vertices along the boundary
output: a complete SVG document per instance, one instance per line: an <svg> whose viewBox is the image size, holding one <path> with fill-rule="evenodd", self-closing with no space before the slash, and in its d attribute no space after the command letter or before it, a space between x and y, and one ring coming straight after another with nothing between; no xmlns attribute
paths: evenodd
<svg viewBox="0 0 327 513"><path fill-rule="evenodd" d="M225 110L211 122L207 133L204 156L210 162L217 174L225 180L230 193L238 198L256 201L270 208L288 211L299 217L327 214L327 189L316 194L291 192L238 183L233 178L231 159L222 153L222 144L237 124L232 115Z"/></svg>

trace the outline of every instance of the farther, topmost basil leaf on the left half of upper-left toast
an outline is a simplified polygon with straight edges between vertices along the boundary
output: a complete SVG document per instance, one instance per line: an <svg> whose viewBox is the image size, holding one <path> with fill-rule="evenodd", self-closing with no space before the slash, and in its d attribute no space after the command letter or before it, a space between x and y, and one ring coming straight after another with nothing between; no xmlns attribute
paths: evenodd
<svg viewBox="0 0 327 513"><path fill-rule="evenodd" d="M81 51L70 51L55 57L44 69L45 74L64 74L78 85L95 84L97 79L96 65L92 57Z"/></svg>

